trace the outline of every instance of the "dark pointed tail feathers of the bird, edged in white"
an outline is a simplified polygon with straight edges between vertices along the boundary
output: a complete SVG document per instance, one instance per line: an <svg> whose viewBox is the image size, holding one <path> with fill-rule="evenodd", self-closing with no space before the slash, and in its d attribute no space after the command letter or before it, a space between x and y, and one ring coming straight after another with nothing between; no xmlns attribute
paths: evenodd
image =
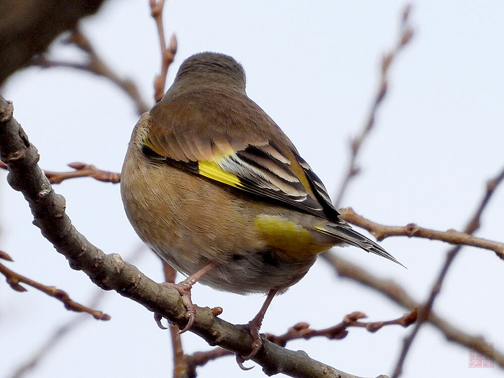
<svg viewBox="0 0 504 378"><path fill-rule="evenodd" d="M334 236L340 239L343 243L347 243L364 249L365 251L371 252L375 255L385 257L393 261L394 263L406 268L379 244L353 230L346 222L342 221L342 223L329 223L324 227L317 227L317 231L326 235Z"/></svg>

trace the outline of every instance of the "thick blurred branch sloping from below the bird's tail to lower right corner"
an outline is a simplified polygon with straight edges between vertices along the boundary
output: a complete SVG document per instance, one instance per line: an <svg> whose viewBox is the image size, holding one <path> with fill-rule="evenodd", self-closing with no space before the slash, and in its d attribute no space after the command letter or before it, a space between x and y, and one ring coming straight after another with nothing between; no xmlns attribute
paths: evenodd
<svg viewBox="0 0 504 378"><path fill-rule="evenodd" d="M333 253L327 252L323 254L322 257L336 270L336 274L339 277L348 278L361 285L367 286L410 310L421 307L420 303L417 303L403 287L394 281L378 278L357 265L337 257ZM483 337L465 333L463 330L456 328L451 325L449 321L437 316L433 312L428 314L427 322L442 332L449 341L474 349L481 355L493 359L504 368L504 353L487 348L484 345L486 341Z"/></svg>

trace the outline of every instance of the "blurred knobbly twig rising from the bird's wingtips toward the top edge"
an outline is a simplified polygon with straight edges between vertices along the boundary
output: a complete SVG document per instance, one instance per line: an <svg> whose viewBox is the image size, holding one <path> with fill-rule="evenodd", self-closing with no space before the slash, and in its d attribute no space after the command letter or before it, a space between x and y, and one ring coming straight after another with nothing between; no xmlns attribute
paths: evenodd
<svg viewBox="0 0 504 378"><path fill-rule="evenodd" d="M343 195L345 194L348 184L359 173L359 168L356 165L357 155L360 151L362 143L374 127L374 118L376 117L376 112L382 104L385 95L387 94L387 88L389 86L388 74L390 66L397 58L397 54L403 49L404 46L406 46L406 44L408 44L408 42L411 40L411 37L413 36L413 29L409 25L410 12L411 5L407 5L402 13L400 36L396 43L396 46L382 58L380 84L374 97L374 102L369 111L369 115L367 116L366 123L364 124L364 128L362 129L360 134L356 136L350 143L350 162L348 164L348 169L345 177L341 182L340 190L336 195L336 200L334 201L334 206L336 208L340 206L341 200L343 199Z"/></svg>

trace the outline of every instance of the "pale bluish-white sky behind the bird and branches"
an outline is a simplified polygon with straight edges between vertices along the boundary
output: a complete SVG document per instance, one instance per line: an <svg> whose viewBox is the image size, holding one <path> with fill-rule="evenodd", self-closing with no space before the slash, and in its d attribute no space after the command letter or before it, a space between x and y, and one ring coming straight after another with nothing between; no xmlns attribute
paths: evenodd
<svg viewBox="0 0 504 378"><path fill-rule="evenodd" d="M110 1L82 23L101 56L131 77L152 103L159 72L159 48L147 1ZM178 37L168 86L181 61L205 50L234 56L245 68L247 93L291 138L330 193L343 177L348 142L362 127L373 101L379 61L398 37L402 1L334 2L167 2L164 25ZM504 164L504 26L501 2L418 1L411 15L414 39L391 68L385 103L363 146L362 172L342 206L384 224L462 229L484 192L484 182ZM53 56L74 60L80 53L57 45ZM15 117L38 148L41 167L68 170L73 161L120 171L133 126L132 102L93 75L68 69L29 68L3 90ZM15 260L8 266L39 282L65 289L87 303L97 289L85 274L69 269L62 256L31 225L24 199L1 172L0 248ZM119 186L91 178L65 181L55 190L67 199L74 225L106 253L127 259L139 239L124 216ZM504 186L495 193L478 235L504 240ZM449 245L406 237L384 247L408 269L349 247L338 250L376 275L407 287L424 300ZM159 260L144 250L136 262L161 281ZM504 349L501 322L504 262L491 251L466 247L456 259L434 310L466 332L484 335ZM180 277L179 277L180 278ZM243 324L259 309L262 296L216 292L201 285L193 300L222 306L222 318ZM109 292L98 308L112 320L88 320L29 376L166 377L171 348L152 313ZM306 321L314 328L340 322L355 310L372 321L401 316L404 309L375 292L334 277L319 261L297 285L275 298L264 332L280 334ZM40 348L56 327L75 317L46 295L18 293L0 282L0 376ZM90 318L89 316L85 316ZM290 342L311 357L356 375L391 374L411 329L386 327L375 334L350 329L340 341ZM209 347L187 332L184 350ZM421 329L404 376L501 376L498 367L468 368L468 350L451 344L430 326ZM252 365L253 362L248 362ZM241 371L232 357L210 362L199 376L264 376L261 367Z"/></svg>

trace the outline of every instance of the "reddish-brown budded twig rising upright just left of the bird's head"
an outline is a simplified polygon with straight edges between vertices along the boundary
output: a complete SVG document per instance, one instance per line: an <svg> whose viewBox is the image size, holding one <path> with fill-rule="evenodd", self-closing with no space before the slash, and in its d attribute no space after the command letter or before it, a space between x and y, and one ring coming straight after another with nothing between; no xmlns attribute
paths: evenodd
<svg viewBox="0 0 504 378"><path fill-rule="evenodd" d="M166 75L175 54L177 52L177 38L175 34L171 36L170 45L166 48L163 30L163 9L165 0L150 0L151 15L156 21L159 35L159 44L161 47L161 73L154 79L154 100L159 102L164 95L164 86L166 84Z"/></svg>

